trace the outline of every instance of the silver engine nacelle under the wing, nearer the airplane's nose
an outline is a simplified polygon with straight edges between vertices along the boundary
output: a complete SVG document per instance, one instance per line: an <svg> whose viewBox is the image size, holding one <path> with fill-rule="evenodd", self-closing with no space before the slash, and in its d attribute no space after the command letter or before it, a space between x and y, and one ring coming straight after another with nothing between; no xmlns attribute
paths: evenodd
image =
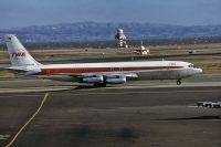
<svg viewBox="0 0 221 147"><path fill-rule="evenodd" d="M105 77L107 84L123 84L126 83L126 77L122 75L110 75Z"/></svg>

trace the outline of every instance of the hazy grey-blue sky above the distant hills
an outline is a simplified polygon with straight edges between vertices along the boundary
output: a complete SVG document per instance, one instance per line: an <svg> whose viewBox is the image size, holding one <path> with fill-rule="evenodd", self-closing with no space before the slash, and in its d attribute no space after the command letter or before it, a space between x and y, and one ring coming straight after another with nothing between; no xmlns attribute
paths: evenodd
<svg viewBox="0 0 221 147"><path fill-rule="evenodd" d="M221 24L221 0L0 0L0 28L82 21Z"/></svg>

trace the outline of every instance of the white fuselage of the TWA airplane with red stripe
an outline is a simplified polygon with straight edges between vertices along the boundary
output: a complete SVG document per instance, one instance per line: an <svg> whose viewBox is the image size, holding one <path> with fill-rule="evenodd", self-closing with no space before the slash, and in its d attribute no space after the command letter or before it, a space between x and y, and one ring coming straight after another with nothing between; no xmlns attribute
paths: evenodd
<svg viewBox="0 0 221 147"><path fill-rule="evenodd" d="M106 62L49 64L41 66L44 77L52 80L74 81L74 75L125 75L145 80L180 80L202 70L190 66L191 63L180 61L146 61L146 62ZM73 76L72 76L73 75Z"/></svg>

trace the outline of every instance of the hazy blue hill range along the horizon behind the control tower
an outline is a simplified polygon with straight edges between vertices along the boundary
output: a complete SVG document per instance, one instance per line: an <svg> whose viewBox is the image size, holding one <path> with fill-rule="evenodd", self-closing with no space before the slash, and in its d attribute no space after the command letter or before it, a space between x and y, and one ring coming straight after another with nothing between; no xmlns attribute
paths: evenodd
<svg viewBox="0 0 221 147"><path fill-rule="evenodd" d="M6 33L17 34L25 43L109 41L114 40L116 30L119 28L124 29L129 40L221 36L221 25L78 22L0 30L0 44Z"/></svg>

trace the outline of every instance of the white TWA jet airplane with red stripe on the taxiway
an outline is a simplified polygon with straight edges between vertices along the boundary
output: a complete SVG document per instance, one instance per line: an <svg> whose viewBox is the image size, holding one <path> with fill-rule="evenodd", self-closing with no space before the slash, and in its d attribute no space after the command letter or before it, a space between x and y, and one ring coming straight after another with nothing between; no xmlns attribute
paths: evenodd
<svg viewBox="0 0 221 147"><path fill-rule="evenodd" d="M8 70L64 82L92 83L94 86L124 84L133 78L177 80L202 73L202 69L182 61L130 61L103 63L41 64L25 50L14 34L6 34L4 41L10 55Z"/></svg>

